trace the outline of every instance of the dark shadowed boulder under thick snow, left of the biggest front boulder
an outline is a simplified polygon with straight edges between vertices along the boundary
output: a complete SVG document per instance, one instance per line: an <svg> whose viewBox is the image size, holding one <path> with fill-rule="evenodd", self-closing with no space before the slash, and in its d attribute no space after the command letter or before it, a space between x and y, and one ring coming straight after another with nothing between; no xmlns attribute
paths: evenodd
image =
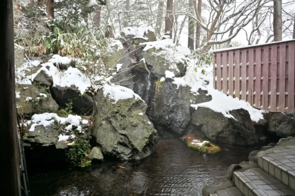
<svg viewBox="0 0 295 196"><path fill-rule="evenodd" d="M90 114L93 109L91 93L85 92L82 95L75 85L71 85L71 87L53 86L52 93L61 106L66 106L66 104L72 102L74 112Z"/></svg>

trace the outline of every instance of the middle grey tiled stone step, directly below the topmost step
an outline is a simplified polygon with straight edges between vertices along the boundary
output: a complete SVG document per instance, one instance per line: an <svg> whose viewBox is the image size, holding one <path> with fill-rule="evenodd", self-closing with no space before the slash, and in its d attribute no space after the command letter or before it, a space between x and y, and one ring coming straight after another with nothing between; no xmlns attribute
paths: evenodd
<svg viewBox="0 0 295 196"><path fill-rule="evenodd" d="M295 191L260 168L234 172L236 187L245 196L295 196Z"/></svg>

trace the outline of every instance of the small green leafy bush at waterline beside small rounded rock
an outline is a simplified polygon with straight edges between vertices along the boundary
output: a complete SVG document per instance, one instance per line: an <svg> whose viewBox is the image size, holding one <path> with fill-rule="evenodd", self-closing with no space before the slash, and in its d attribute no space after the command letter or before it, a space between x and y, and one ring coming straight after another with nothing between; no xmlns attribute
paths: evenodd
<svg viewBox="0 0 295 196"><path fill-rule="evenodd" d="M90 145L82 138L76 136L74 145L67 151L67 160L74 166L85 167L91 164L88 159Z"/></svg>

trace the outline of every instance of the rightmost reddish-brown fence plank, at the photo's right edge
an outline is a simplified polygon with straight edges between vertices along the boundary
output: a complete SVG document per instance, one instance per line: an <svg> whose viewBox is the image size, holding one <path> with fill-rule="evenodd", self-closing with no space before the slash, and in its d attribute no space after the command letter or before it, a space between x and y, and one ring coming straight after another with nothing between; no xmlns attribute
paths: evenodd
<svg viewBox="0 0 295 196"><path fill-rule="evenodd" d="M289 43L288 58L288 112L294 112L295 42Z"/></svg>

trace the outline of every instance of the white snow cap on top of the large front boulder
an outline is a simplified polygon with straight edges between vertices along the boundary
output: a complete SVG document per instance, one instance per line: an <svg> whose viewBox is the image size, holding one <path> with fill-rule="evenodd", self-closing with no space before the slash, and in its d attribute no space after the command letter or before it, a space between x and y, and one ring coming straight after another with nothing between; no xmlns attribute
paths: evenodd
<svg viewBox="0 0 295 196"><path fill-rule="evenodd" d="M115 104L120 99L128 99L128 98L135 98L141 99L139 95L135 94L131 89L128 89L123 86L115 85L115 84L104 84L103 85L103 95L109 96L110 99L115 100Z"/></svg>

